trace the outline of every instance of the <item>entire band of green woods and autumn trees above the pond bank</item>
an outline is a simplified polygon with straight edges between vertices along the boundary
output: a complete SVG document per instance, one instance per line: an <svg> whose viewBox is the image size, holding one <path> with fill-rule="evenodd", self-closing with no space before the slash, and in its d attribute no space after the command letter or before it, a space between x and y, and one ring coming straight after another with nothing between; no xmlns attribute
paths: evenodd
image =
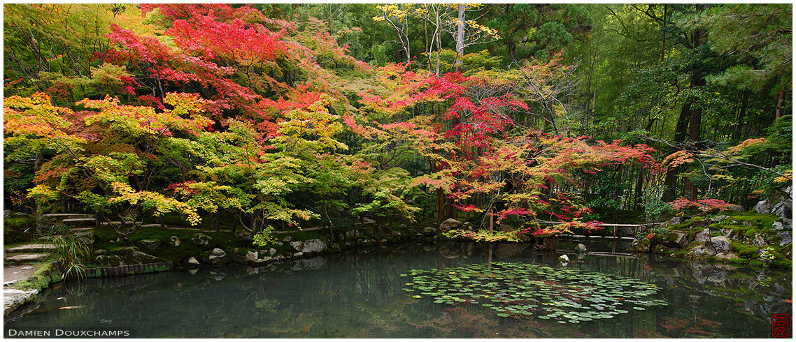
<svg viewBox="0 0 796 342"><path fill-rule="evenodd" d="M176 215L261 242L358 216L510 240L792 183L790 4L4 15L6 209L97 213L125 239ZM478 232L489 217L514 231Z"/></svg>

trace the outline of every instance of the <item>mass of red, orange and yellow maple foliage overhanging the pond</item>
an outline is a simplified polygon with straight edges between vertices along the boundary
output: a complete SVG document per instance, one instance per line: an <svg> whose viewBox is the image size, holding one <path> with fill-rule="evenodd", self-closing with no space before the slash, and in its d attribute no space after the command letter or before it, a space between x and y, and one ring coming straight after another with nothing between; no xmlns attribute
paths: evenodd
<svg viewBox="0 0 796 342"><path fill-rule="evenodd" d="M560 56L438 75L356 60L318 20L299 28L249 6L141 10L157 29L111 22L107 48L92 53L118 89L4 105L10 156L47 155L29 196L78 201L121 221L124 237L147 214L166 213L189 225L224 213L251 232L320 221L334 237L341 213L414 220L434 198L439 218L471 213L474 230L491 216L515 222L513 237L552 236L599 229L581 196L590 175L661 171L646 144L556 125L567 109L550 98L574 70ZM550 117L553 129L529 117Z"/></svg>

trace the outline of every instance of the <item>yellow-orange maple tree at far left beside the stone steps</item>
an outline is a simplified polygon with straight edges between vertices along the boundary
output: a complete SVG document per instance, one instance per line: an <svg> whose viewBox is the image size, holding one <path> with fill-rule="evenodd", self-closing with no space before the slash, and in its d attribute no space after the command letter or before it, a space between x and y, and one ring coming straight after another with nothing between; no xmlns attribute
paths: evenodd
<svg viewBox="0 0 796 342"><path fill-rule="evenodd" d="M181 145L178 135L197 135L210 121L201 116L201 99L190 94L169 94L173 110L156 113L151 107L121 106L119 100L84 99L74 112L50 104L42 93L29 98L12 96L4 108L6 144L18 148L14 155L54 152L37 171L37 186L29 191L39 202L74 198L103 213L107 225L129 243L139 229L143 213L177 212L191 224L201 218L196 208L151 190L162 168L161 158ZM187 118L184 118L187 117ZM111 221L109 217L119 221Z"/></svg>

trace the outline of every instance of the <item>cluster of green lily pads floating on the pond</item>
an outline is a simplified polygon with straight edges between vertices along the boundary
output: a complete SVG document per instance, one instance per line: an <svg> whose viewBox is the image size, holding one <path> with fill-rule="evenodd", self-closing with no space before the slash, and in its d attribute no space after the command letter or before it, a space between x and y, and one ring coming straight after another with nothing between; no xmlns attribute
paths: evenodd
<svg viewBox="0 0 796 342"><path fill-rule="evenodd" d="M580 323L667 305L638 279L530 263L497 262L411 270L404 290L437 304L482 305L500 317ZM419 293L419 294L417 294Z"/></svg>

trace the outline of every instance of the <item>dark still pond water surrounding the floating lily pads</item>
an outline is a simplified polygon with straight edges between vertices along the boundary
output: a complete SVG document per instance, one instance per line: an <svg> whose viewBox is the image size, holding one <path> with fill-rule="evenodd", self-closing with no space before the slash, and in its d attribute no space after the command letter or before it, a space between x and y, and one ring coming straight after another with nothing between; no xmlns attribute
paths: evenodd
<svg viewBox="0 0 796 342"><path fill-rule="evenodd" d="M127 329L133 337L197 338L753 338L771 336L772 313L792 313L790 272L646 256L585 255L579 259L573 254L569 257L578 262L562 266L556 261L559 255L534 252L522 244L408 244L259 268L88 279L45 290L38 302L6 317L4 333L9 336L9 329ZM534 315L501 317L505 314L498 315L501 312L483 303L435 303L434 295L408 291L411 286L405 285L412 283L412 273L431 269L488 271L498 266L537 271L552 267L556 274L575 278L620 279L611 281L652 288L644 292L647 298L665 304L570 323ZM554 283L544 275L527 276L533 283ZM512 281L520 284L522 280ZM548 288L548 294L556 289ZM599 293L597 287L589 289ZM501 291L509 295L497 290ZM619 291L615 297L622 296ZM583 298L572 300L583 302ZM68 306L76 308L60 309ZM538 309L528 306L534 305L525 306L528 312ZM610 310L597 305L591 309L599 311L595 306Z"/></svg>

